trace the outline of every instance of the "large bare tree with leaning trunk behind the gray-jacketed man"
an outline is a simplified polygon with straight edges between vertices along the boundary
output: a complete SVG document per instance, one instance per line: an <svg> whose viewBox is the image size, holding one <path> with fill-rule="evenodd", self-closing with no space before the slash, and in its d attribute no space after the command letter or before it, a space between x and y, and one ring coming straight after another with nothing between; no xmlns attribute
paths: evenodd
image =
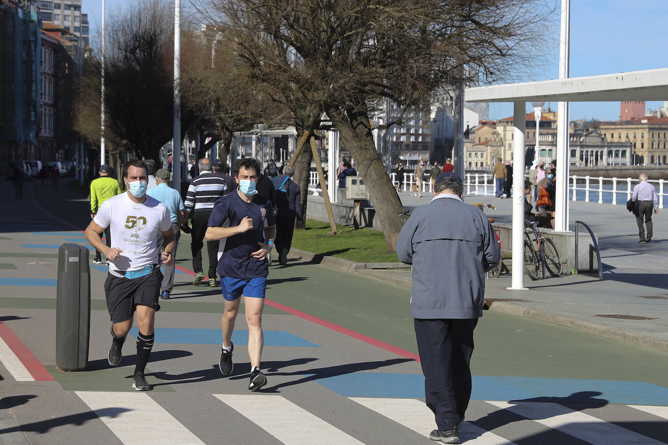
<svg viewBox="0 0 668 445"><path fill-rule="evenodd" d="M210 0L216 8L255 79L291 109L325 111L340 131L388 250L403 207L373 143L381 99L427 110L461 85L508 79L528 67L552 11L543 0Z"/></svg>

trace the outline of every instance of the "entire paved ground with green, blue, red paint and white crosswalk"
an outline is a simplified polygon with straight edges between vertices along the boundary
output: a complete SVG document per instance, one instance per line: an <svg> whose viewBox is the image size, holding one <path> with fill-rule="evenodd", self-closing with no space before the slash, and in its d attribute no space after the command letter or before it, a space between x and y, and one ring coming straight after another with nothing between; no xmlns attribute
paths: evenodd
<svg viewBox="0 0 668 445"><path fill-rule="evenodd" d="M160 300L156 314L146 374L154 390L136 392L132 338L120 366L106 361L104 266L91 265L88 367L56 366L57 250L63 242L88 245L81 233L90 221L85 193L65 181L57 189L28 183L22 200L12 192L0 181L0 443L430 443L434 419L416 361L407 270L297 251L287 266L273 264L263 314L269 384L253 393L246 389L242 314L232 339L234 372L218 372L220 290L192 286L184 236L174 298ZM494 217L510 214L510 201L492 203ZM599 221L595 232L607 240L605 280L527 280L530 290L512 292L508 277L487 280L494 301L476 328L474 394L460 430L466 444L668 443L668 355L657 347L666 340L660 326L668 300L661 213L657 243L634 246L633 217L612 205L587 203L599 206L597 213L582 204L592 213L577 218ZM626 266L629 258L642 268ZM503 313L510 312L504 306L520 316ZM584 324L559 326L536 314ZM591 335L595 323L655 342Z"/></svg>

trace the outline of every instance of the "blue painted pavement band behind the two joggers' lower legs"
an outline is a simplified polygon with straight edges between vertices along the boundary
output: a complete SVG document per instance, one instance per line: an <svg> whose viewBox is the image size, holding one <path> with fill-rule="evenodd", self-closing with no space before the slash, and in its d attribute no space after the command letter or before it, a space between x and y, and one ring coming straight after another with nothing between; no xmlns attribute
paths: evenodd
<svg viewBox="0 0 668 445"><path fill-rule="evenodd" d="M180 329L156 328L156 343L173 344L221 344L220 329ZM136 337L137 328L130 330L130 335ZM265 346L297 346L305 348L320 348L320 345L307 342L285 331L265 331ZM248 344L248 331L235 330L232 332L232 343L237 345Z"/></svg>

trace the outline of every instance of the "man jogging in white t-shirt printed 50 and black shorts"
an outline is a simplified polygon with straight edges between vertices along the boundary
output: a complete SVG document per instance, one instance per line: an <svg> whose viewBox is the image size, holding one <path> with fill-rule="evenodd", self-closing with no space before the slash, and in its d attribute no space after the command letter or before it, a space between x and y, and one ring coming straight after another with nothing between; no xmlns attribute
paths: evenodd
<svg viewBox="0 0 668 445"><path fill-rule="evenodd" d="M107 308L112 319L112 346L108 360L118 366L122 348L137 312L137 362L132 387L138 391L152 389L144 377L144 369L154 341L154 321L160 310L158 298L162 273L158 266L158 231L164 238L162 262L174 262L174 232L167 207L146 195L148 175L146 164L133 159L126 165L123 180L128 189L104 201L86 228L86 239L110 261L104 283ZM104 228L110 226L114 247L100 239Z"/></svg>

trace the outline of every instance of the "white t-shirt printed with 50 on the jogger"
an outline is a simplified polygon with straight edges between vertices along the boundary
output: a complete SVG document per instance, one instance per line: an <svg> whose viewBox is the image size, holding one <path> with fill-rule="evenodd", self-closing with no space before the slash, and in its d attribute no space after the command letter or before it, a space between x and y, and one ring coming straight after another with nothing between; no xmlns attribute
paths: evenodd
<svg viewBox="0 0 668 445"><path fill-rule="evenodd" d="M166 205L146 195L146 201L136 203L128 192L107 199L93 218L100 227L110 227L112 248L122 250L110 263L112 270L140 270L158 263L156 237L158 230L172 228Z"/></svg>

